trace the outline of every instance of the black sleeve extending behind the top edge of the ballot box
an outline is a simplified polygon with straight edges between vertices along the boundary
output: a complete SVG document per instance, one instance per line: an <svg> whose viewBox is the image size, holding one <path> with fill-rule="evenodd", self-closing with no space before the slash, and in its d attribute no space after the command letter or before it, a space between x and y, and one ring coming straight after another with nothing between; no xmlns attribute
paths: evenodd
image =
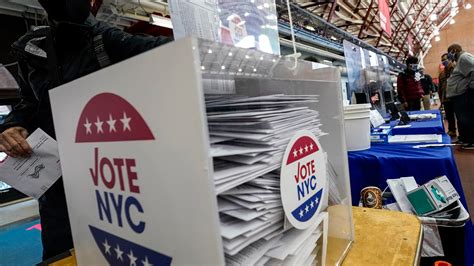
<svg viewBox="0 0 474 266"><path fill-rule="evenodd" d="M167 37L132 35L112 27L104 30L102 39L112 63L120 62L172 41Z"/></svg>

